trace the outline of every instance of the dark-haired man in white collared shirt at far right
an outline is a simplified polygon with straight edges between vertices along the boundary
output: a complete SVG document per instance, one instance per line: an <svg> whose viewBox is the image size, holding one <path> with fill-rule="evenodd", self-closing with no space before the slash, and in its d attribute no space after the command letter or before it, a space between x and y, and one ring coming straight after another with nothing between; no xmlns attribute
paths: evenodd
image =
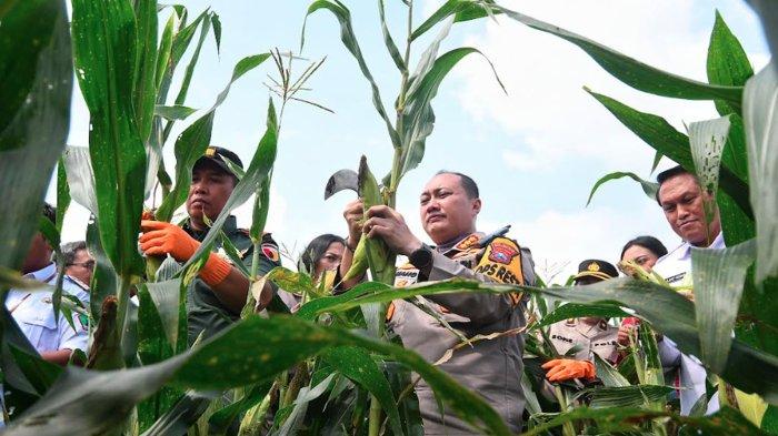
<svg viewBox="0 0 778 436"><path fill-rule="evenodd" d="M702 190L697 178L675 166L657 175L659 191L657 202L665 212L667 222L672 231L681 237L681 244L659 258L654 271L672 286L691 285L691 247L720 250L725 247L721 233L721 221L718 207L714 215L706 220L706 202L716 205L716 199ZM706 372L700 362L681 354L671 338L665 338L659 344L662 365L677 366L680 369L680 405L681 415L688 415L691 408L706 394ZM708 413L718 409L718 397L714 396L708 405Z"/></svg>

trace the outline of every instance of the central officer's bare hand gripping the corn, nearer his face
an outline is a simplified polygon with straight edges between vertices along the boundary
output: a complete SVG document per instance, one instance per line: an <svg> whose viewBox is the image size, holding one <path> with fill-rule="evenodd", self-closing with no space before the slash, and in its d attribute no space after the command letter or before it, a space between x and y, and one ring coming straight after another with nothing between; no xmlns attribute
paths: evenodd
<svg viewBox="0 0 778 436"><path fill-rule="evenodd" d="M362 232L367 237L380 237L397 254L409 255L421 247L421 241L410 232L399 212L385 205L368 209Z"/></svg>

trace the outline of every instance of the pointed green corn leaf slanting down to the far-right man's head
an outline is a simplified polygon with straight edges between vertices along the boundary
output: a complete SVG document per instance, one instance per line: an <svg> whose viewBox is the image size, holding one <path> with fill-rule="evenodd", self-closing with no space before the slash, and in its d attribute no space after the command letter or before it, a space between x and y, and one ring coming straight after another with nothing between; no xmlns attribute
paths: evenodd
<svg viewBox="0 0 778 436"><path fill-rule="evenodd" d="M665 156L694 173L695 165L691 156L689 139L677 131L661 116L639 112L609 97L587 90L597 101L608 109L627 129L631 130L649 146L661 152ZM740 180L726 165L720 169L719 187L742 210L751 216L751 204L748 200L748 184Z"/></svg>

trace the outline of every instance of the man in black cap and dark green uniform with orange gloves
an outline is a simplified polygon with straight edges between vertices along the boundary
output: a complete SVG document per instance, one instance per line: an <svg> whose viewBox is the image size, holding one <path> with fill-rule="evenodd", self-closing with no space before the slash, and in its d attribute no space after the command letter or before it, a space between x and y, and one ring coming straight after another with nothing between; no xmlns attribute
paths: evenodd
<svg viewBox="0 0 778 436"><path fill-rule="evenodd" d="M243 168L240 159L233 152L209 146L192 169L192 184L187 197L189 217L181 227L166 222L144 220L141 223L143 235L140 247L147 255L170 254L179 262L188 261L197 251L200 242L208 234L206 216L213 221L219 216L232 190L238 183L238 176L232 172L227 158L232 164ZM253 254L253 244L249 232L238 229L237 221L230 215L222 231L249 268ZM194 285L187 294L187 312L189 325L189 343L192 344L201 333L203 338L212 336L228 327L240 317L240 311L246 304L249 278L235 267L218 243L215 253L200 270ZM280 266L278 245L269 233L262 236L262 255L259 256L258 274L267 274ZM272 298L275 285L267 283L260 297L260 307L265 307Z"/></svg>

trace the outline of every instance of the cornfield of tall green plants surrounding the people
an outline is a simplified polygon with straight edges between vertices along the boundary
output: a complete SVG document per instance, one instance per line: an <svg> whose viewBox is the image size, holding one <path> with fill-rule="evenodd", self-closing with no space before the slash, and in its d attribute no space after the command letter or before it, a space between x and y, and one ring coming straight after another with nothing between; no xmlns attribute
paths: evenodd
<svg viewBox="0 0 778 436"><path fill-rule="evenodd" d="M473 433L507 435L507 425L483 397L403 348L385 327L387 306L393 300L463 290L529 295L528 325L513 333L527 338L521 381L527 397L526 435L778 434L778 128L774 129L778 126L778 67L771 62L755 73L718 13L708 49L708 82L700 82L491 0L448 0L421 18L419 2L403 3L407 34L396 39L386 22L383 0L377 2L377 32L397 68L398 93L391 99L362 55L347 4L315 0L300 17L301 50L306 28L337 26L342 45L367 80L366 98L386 125L386 142L391 145L391 170L386 176L371 172L368 161L375 163L378 158L366 154L360 162L339 163L353 170L333 175L340 187L329 195L343 189L342 178L352 178L357 185L351 187L366 209L395 206L402 178L423 159L436 121L432 100L447 74L470 54L491 65L469 47L441 53L441 41L451 27L473 20L526 26L577 45L614 78L639 91L715 102L718 113L711 116L717 118L694 122L682 133L659 114L586 89L656 151L655 166L661 156L675 161L715 194L727 249L692 253L694 303L650 277L616 278L575 292L569 283L518 286L460 280L393 287L396 256L382 242L367 237L357 247L360 258L353 274L369 270L372 281L340 295L332 295L306 271L278 267L260 276L256 254L271 182L286 176L273 172L277 152L283 152L279 132L282 122L295 123L285 119L283 109L287 104L326 109L301 97L323 61L301 60L279 50L248 55L237 62L212 107L192 121L196 111L187 105L187 98L190 87L197 85L192 77L200 49L211 36L217 45L222 42L222 24L215 12L193 16L183 6L156 0L72 0L69 18L64 0L3 0L0 185L7 212L0 225L0 295L4 302L11 288L50 290L22 276L21 265L37 232L59 247L71 201L92 215L87 242L97 261L89 306L63 295L63 270L59 270L54 313L81 314L90 326L89 349L74 353L64 367L43 361L2 305L4 434L422 435L413 394L421 377L440 404L469 423ZM778 7L767 0L749 3L775 51ZM335 20L326 22L326 18ZM413 44L433 30L438 33L429 47L418 60L411 59ZM192 53L188 62L187 52ZM292 74L292 62L307 63ZM181 67L178 82L173 74L179 71L180 75ZM141 217L152 213L158 221L173 220L187 200L194 163L210 144L218 108L232 83L255 69L268 69L277 79L269 87L261 140L232 195L188 262L142 256L138 250ZM73 78L89 109L88 148L67 145ZM497 71L495 79L501 87ZM171 89L173 83L180 88ZM392 102L390 109L387 102ZM173 128L182 124L181 133L171 138ZM172 173L163 161L166 146L173 148ZM39 220L52 174L57 178L54 225ZM626 172L605 175L591 195L602 183L624 176L639 182L654 199L655 183ZM215 244L228 245L222 226L230 213L252 195L249 235L255 258L251 267L241 270L251 283L241 318L190 347L187 293ZM233 250L226 251L242 266ZM62 254L57 251L56 255L61 258ZM266 311L257 313L259 292L268 282L302 295L303 304L290 313L275 296ZM137 304L131 295L137 295ZM538 338L550 324L581 316L638 316L645 322L626 363L596 362L602 386L581 391L562 383L555 386L556 400L550 400L540 395L540 365L556 353L548 341ZM702 407L681 416L677 405L668 402L672 387L662 378L652 332L671 337L681 352L699 357L708 369L710 394L721 394L719 412L706 416Z"/></svg>

